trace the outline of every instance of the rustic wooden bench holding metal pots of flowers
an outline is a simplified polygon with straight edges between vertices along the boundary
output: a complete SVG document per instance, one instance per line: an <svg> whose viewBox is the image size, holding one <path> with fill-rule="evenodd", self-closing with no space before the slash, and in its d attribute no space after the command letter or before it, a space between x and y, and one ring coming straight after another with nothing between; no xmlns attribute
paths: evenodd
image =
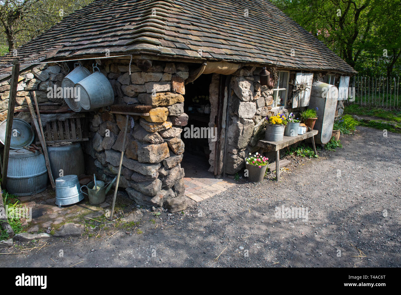
<svg viewBox="0 0 401 295"><path fill-rule="evenodd" d="M267 141L265 139L258 141L258 147L261 147L263 150L276 152L276 181L280 179L280 150L284 149L284 147L288 147L289 145L297 143L298 141L312 137L313 151L315 152L315 155L317 155L314 139L316 134L318 134L318 130L308 131L303 135L298 135L295 137L284 136L282 141Z"/></svg>

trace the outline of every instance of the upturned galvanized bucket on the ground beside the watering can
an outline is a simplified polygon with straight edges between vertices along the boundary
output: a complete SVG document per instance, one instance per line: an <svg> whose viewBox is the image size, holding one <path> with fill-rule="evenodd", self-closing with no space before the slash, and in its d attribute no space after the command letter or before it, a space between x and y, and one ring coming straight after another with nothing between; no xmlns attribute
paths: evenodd
<svg viewBox="0 0 401 295"><path fill-rule="evenodd" d="M56 205L67 206L83 200L81 185L78 176L67 175L55 180L56 184Z"/></svg>

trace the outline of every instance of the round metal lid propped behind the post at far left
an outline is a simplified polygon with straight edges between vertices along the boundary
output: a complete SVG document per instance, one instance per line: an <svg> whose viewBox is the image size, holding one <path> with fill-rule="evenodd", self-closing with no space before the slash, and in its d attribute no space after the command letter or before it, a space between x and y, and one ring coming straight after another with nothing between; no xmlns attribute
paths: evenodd
<svg viewBox="0 0 401 295"><path fill-rule="evenodd" d="M6 122L0 123L0 142L4 144L6 138ZM12 120L12 133L10 148L19 150L24 146L30 145L35 138L32 127L24 120L14 118Z"/></svg>

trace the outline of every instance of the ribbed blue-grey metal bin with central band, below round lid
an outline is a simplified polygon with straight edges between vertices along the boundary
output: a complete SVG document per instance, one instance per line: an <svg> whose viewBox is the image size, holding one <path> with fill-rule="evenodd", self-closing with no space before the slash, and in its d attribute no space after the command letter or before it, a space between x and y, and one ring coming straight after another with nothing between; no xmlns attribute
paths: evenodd
<svg viewBox="0 0 401 295"><path fill-rule="evenodd" d="M29 196L47 187L45 157L38 151L10 150L7 171L7 191L17 196Z"/></svg>

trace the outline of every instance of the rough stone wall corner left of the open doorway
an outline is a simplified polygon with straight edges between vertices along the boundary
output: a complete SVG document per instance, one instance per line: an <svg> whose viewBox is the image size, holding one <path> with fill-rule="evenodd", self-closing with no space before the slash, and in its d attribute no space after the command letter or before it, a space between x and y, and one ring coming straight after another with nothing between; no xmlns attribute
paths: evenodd
<svg viewBox="0 0 401 295"><path fill-rule="evenodd" d="M182 126L188 123L183 96L188 66L154 61L143 71L135 64L133 61L131 75L126 61L106 61L101 72L113 86L115 104L151 105L149 115L130 116L123 147L126 116L96 113L87 153L95 159L99 177L110 181L118 173L124 149L119 186L139 205L163 206L169 199L182 198L185 191L180 163L184 153ZM174 203L182 203L178 200Z"/></svg>

